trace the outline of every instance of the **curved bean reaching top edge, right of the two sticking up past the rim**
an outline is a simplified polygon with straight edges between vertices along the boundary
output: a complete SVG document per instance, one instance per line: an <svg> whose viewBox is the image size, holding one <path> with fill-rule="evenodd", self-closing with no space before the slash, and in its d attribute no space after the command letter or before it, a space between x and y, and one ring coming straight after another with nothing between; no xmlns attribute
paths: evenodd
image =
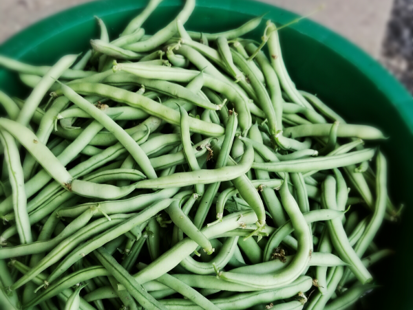
<svg viewBox="0 0 413 310"><path fill-rule="evenodd" d="M148 52L151 49L155 49L159 45L162 45L172 38L172 36L178 31L176 21L179 19L182 24L184 24L188 20L194 8L195 1L187 0L182 11L178 14L178 16L176 16L176 19L171 21L165 28L156 32L156 34L153 34L153 36L147 40L127 45L126 48L133 52Z"/></svg>

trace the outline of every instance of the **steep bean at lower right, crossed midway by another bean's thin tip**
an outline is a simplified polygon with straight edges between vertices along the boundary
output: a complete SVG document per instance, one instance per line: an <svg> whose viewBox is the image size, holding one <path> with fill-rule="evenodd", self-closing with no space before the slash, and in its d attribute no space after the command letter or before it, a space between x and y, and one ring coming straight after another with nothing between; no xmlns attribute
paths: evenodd
<svg viewBox="0 0 413 310"><path fill-rule="evenodd" d="M321 185L321 206L332 210L337 210L336 181L334 177L328 176ZM356 252L354 252L348 242L346 232L344 232L341 219L331 219L327 221L328 232L335 250L339 253L340 258L350 264L350 270L357 276L361 283L368 283L372 280L370 272L363 266Z"/></svg>

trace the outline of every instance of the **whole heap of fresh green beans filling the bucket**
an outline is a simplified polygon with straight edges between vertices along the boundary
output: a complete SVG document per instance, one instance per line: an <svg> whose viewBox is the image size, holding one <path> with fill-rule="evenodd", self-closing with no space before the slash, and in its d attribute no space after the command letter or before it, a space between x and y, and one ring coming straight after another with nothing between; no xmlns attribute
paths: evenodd
<svg viewBox="0 0 413 310"><path fill-rule="evenodd" d="M189 32L185 0L145 34L161 1L51 67L0 56L32 88L0 91L0 309L353 309L401 211L385 135L295 87L274 23L242 38L264 16Z"/></svg>

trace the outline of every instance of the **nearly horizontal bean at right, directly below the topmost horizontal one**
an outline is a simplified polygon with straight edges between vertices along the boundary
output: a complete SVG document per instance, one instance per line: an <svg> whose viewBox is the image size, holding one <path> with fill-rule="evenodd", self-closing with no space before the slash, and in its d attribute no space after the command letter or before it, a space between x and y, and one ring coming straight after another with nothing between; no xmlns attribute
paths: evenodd
<svg viewBox="0 0 413 310"><path fill-rule="evenodd" d="M366 148L363 151L354 151L348 154L332 155L330 157L297 159L276 163L253 163L252 168L273 172L306 173L310 170L325 170L350 166L371 159L374 153L374 148Z"/></svg>

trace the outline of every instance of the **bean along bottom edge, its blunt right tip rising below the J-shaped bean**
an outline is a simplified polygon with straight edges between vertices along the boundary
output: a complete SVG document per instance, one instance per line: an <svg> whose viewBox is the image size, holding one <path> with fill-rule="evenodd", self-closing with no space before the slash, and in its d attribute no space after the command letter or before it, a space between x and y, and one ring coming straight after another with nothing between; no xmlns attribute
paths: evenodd
<svg viewBox="0 0 413 310"><path fill-rule="evenodd" d="M286 287L280 289L266 289L263 291L255 291L251 293L235 294L229 298L217 298L212 299L211 302L220 309L248 309L254 305L261 304L262 302L268 303L274 300L282 300L290 298L299 294L299 292L307 291L313 285L313 281L308 276L302 276L297 278L293 283L290 283ZM185 309L185 310L198 310L202 309L197 307L189 300L161 300L162 304L166 305L168 309Z"/></svg>

